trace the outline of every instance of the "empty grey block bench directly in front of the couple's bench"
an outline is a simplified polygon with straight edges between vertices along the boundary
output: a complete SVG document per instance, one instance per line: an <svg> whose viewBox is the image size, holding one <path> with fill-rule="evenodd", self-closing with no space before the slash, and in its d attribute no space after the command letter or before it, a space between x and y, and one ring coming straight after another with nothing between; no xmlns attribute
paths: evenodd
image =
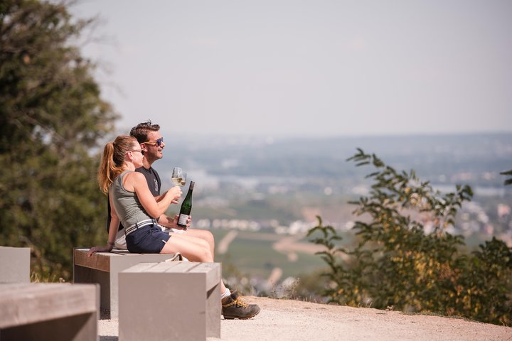
<svg viewBox="0 0 512 341"><path fill-rule="evenodd" d="M119 273L119 341L220 338L220 263L142 263Z"/></svg>

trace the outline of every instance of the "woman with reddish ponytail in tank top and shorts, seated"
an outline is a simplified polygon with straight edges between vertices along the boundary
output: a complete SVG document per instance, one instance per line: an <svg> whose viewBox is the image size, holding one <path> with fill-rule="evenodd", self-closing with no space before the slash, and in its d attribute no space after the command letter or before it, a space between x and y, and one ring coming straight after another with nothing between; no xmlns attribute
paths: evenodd
<svg viewBox="0 0 512 341"><path fill-rule="evenodd" d="M126 227L126 243L130 252L179 252L190 261L213 262L213 254L206 240L187 234L168 234L156 225L156 217L166 212L172 203L178 203L181 189L175 186L157 201L151 194L144 175L135 172L141 166L141 146L134 137L117 136L114 142L105 146L97 178L102 192L108 193L114 210L111 212L107 245L92 247L87 255L112 251L120 221ZM252 318L260 313L260 307L242 301L237 291L231 293L222 281L220 291L223 293L221 301L225 319Z"/></svg>

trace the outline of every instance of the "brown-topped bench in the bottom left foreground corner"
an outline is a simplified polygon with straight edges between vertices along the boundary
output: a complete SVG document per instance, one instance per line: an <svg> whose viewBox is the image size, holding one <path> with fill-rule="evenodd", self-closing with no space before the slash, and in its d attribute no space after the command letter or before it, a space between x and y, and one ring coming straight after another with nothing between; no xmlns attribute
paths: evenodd
<svg viewBox="0 0 512 341"><path fill-rule="evenodd" d="M0 340L97 340L99 301L92 284L0 284Z"/></svg>

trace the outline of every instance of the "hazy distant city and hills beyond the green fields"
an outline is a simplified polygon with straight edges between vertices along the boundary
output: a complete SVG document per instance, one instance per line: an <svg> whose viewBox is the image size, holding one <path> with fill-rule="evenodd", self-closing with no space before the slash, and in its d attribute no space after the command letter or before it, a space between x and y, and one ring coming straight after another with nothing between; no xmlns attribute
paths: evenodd
<svg viewBox="0 0 512 341"><path fill-rule="evenodd" d="M164 188L174 166L196 181L194 227L304 234L316 215L348 231L357 219L348 205L369 190L365 175L346 161L363 148L398 171L414 169L437 190L471 185L452 233L496 236L512 246L512 186L499 173L512 169L512 134L464 134L326 139L270 136L165 136L164 159L154 166ZM188 186L188 185L187 185ZM186 188L185 188L186 190Z"/></svg>

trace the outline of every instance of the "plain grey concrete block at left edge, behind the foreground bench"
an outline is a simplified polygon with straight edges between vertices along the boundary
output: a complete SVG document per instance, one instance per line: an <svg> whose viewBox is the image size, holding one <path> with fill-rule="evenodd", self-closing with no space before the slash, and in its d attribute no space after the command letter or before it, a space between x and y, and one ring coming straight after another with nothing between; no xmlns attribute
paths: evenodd
<svg viewBox="0 0 512 341"><path fill-rule="evenodd" d="M0 247L0 283L30 283L30 247Z"/></svg>

